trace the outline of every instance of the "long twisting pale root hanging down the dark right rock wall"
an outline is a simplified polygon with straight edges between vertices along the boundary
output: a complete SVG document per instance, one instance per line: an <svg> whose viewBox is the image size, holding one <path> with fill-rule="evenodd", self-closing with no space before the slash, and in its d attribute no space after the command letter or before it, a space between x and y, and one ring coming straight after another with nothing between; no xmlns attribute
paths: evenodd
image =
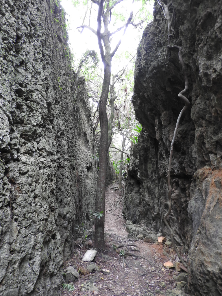
<svg viewBox="0 0 222 296"><path fill-rule="evenodd" d="M180 114L179 114L179 116L177 118L176 127L175 127L174 135L173 135L173 140L172 140L171 145L170 145L170 158L169 158L168 171L167 171L168 206L169 206L169 209L168 209L168 212L163 217L163 220L164 220L166 226L168 227L168 229L170 231L170 238L171 238L171 242L173 244L174 250L176 251L176 253L177 253L178 257L180 258L181 262L183 263L183 265L185 267L187 267L186 263L184 262L183 258L180 255L180 252L178 251L178 249L177 249L177 247L175 245L174 238L173 238L173 230L171 229L170 225L166 221L166 218L168 217L168 215L171 212L171 192L172 192L172 187L171 187L171 184L170 184L170 168L171 168L172 155L173 155L173 144L174 144L174 141L176 139L176 133L177 133L177 129L178 129L178 126L179 126L180 118L183 115L183 113L185 112L185 110L190 105L189 100L183 95L188 90L188 77L187 77L187 74L186 74L186 66L185 66L185 63L184 63L184 60L183 60L183 57L182 57L182 54L181 54L181 49L182 48L180 46L176 46L176 45L168 47L168 48L169 49L173 49L173 48L179 49L178 56L179 56L179 60L180 60L181 66L182 66L183 74L184 74L185 88L178 94L178 97L184 101L185 106L183 107L183 109L181 110L181 112L180 112Z"/></svg>

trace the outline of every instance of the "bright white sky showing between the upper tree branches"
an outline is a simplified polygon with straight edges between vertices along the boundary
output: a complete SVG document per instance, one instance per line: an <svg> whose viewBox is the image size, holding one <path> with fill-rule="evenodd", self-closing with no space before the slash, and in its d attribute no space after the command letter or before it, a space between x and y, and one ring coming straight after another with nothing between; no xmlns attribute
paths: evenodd
<svg viewBox="0 0 222 296"><path fill-rule="evenodd" d="M80 0L82 2L82 0ZM133 10L137 11L139 7L141 6L142 1L136 1L133 4ZM153 0L147 1L147 9L151 12L153 11ZM74 66L78 67L78 61L81 57L81 55L86 52L87 49L92 50L94 49L98 56L99 54L99 46L97 42L97 37L94 33L92 33L89 29L84 28L83 33L80 34L77 29L78 26L82 25L83 17L85 15L85 9L83 5L81 5L81 8L75 8L72 4L71 0L62 0L61 1L62 7L65 9L66 12L66 19L68 20L69 26L68 26L68 35L69 35L69 42L70 47L74 53ZM91 1L89 1L89 5L91 5ZM124 6L123 6L124 5ZM93 4L92 12L91 12L91 20L90 20L90 26L97 29L97 5ZM118 9L118 12L125 12L126 11L126 17L130 14L130 11L132 9L132 0L125 0L122 3L118 4L116 6L116 9ZM135 13L134 13L135 14ZM94 17L94 18L93 18ZM114 17L112 17L112 20L114 20ZM86 17L85 24L89 25L89 18ZM110 25L112 25L110 31L114 31L118 27L122 26L124 22L117 21L115 24L111 22ZM81 29L80 29L81 30ZM111 49L114 49L116 44L118 43L119 39L122 37L122 31L119 33L113 35L112 42L111 42ZM134 28L132 25L128 26L126 30L126 34L122 38L122 42L118 48L117 55L121 55L123 52L129 51L132 55L136 53L137 46L139 44L139 40L141 39L141 30L138 28ZM101 58L100 58L101 60ZM121 63L122 59L118 59L118 63ZM123 61L123 65L120 65L121 68L126 66L126 61ZM112 62L112 69L114 67L118 67L119 65L116 65L115 56L113 58ZM103 68L102 62L101 62L101 68ZM114 71L114 69L113 69Z"/></svg>

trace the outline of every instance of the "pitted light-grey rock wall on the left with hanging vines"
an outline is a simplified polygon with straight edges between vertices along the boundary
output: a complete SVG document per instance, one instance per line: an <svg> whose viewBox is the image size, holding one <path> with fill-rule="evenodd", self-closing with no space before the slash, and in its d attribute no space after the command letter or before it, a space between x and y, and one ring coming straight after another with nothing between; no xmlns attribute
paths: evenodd
<svg viewBox="0 0 222 296"><path fill-rule="evenodd" d="M60 295L75 226L94 212L91 112L57 3L0 0L2 296Z"/></svg>

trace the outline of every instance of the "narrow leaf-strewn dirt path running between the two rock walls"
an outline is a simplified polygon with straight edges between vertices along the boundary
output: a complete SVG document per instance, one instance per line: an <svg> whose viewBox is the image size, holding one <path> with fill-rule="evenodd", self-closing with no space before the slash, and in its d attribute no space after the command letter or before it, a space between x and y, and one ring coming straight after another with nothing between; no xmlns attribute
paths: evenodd
<svg viewBox="0 0 222 296"><path fill-rule="evenodd" d="M112 295L112 296L152 296L170 295L175 287L174 269L165 269L163 263L169 259L163 255L163 246L133 239L126 231L122 216L120 192L113 192L113 185L106 191L105 230L110 252L96 255L97 270L89 273L89 263L81 261L86 250L77 249L66 266L74 266L81 274L75 281L75 290L63 291L62 295ZM102 273L108 269L109 274ZM91 291L89 291L91 289ZM182 295L182 294L181 294Z"/></svg>

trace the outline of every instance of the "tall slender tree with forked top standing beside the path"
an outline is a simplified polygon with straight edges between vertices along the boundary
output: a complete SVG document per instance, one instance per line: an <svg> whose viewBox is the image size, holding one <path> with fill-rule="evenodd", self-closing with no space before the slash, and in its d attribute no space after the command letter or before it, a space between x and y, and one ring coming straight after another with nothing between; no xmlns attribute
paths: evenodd
<svg viewBox="0 0 222 296"><path fill-rule="evenodd" d="M107 147L108 147L108 118L106 112L106 103L109 95L110 88L110 78L111 78L111 61L112 57L116 53L121 39L116 45L115 49L111 52L110 47L110 31L108 30L109 18L111 17L111 10L115 7L116 4L119 3L117 1L112 6L110 6L110 1L105 1L105 6L103 7L104 0L92 0L92 2L96 3L98 8L97 15L97 31L90 28L89 26L82 25L83 28L89 28L93 33L96 34L98 39L99 51L102 58L102 62L104 65L104 78L102 84L102 94L99 100L99 121L100 121L100 147L99 147L99 173L97 178L97 190L96 190L96 212L103 213L103 216L98 219L95 218L95 237L94 237L94 247L96 248L104 248L105 247L105 190L106 190L106 167L107 167ZM133 12L130 13L130 16L125 24L125 29L123 31L123 35L126 33L126 29L130 24L133 17ZM102 20L104 25L104 33L101 33ZM104 48L105 52L104 52ZM112 123L111 123L112 124ZM112 130L112 126L111 126ZM112 132L112 131L111 131ZM112 134L111 134L112 136ZM112 138L111 138L112 139Z"/></svg>

